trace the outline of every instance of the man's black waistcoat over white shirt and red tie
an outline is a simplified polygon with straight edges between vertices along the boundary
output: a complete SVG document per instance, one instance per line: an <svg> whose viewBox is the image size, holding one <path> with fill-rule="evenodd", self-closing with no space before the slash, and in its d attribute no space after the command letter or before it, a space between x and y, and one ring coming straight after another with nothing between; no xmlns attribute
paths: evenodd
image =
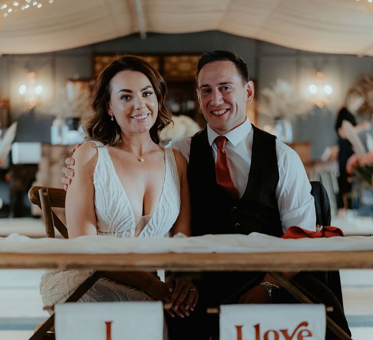
<svg viewBox="0 0 373 340"><path fill-rule="evenodd" d="M253 150L245 193L232 199L216 183L215 162L207 129L192 137L188 180L192 205L192 235L250 234L282 236L275 198L279 180L276 137L253 125Z"/></svg>

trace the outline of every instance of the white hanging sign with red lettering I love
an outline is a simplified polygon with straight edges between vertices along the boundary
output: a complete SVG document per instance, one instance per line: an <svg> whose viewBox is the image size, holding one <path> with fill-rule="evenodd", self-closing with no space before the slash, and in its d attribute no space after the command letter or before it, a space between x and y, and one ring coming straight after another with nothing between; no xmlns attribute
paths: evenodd
<svg viewBox="0 0 373 340"><path fill-rule="evenodd" d="M324 340L324 305L220 306L220 340Z"/></svg>

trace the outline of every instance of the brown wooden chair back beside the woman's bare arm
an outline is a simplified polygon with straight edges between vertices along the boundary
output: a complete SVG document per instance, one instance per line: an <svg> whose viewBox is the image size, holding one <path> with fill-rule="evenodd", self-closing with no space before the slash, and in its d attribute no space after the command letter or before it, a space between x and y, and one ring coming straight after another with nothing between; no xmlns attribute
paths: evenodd
<svg viewBox="0 0 373 340"><path fill-rule="evenodd" d="M51 209L65 208L66 191L55 187L31 187L29 190L29 200L39 206L42 211L45 231L47 237L55 238L54 228L56 228L64 238L68 238L68 229Z"/></svg>

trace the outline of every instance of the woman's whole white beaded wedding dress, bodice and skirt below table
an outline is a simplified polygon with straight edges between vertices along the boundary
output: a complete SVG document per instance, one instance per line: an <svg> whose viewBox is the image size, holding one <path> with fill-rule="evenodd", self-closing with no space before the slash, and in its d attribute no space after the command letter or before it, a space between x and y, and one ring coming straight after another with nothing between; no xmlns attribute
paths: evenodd
<svg viewBox="0 0 373 340"><path fill-rule="evenodd" d="M93 174L97 234L119 238L135 237L135 228L142 229L137 237L164 237L168 234L180 211L180 183L175 156L165 150L165 178L159 202L151 216L136 217L126 192L119 181L107 148L94 142L98 160ZM92 273L90 270L46 272L40 282L44 306L65 301ZM153 301L141 289L102 278L79 302Z"/></svg>

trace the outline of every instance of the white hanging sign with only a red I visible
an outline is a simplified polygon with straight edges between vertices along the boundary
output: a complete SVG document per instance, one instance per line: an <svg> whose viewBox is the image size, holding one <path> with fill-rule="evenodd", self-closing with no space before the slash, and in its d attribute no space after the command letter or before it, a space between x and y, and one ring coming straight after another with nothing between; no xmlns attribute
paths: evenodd
<svg viewBox="0 0 373 340"><path fill-rule="evenodd" d="M163 340L161 302L56 305L56 340Z"/></svg>

